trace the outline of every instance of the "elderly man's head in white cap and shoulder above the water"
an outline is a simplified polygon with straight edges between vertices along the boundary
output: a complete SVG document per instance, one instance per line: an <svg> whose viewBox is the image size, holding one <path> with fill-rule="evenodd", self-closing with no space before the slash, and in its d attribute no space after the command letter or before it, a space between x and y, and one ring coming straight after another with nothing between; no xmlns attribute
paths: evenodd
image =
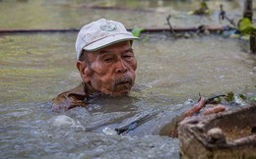
<svg viewBox="0 0 256 159"><path fill-rule="evenodd" d="M96 96L127 95L135 80L132 49L138 39L119 22L100 19L82 27L76 40L77 69L82 83L53 99L55 111L85 107Z"/></svg>

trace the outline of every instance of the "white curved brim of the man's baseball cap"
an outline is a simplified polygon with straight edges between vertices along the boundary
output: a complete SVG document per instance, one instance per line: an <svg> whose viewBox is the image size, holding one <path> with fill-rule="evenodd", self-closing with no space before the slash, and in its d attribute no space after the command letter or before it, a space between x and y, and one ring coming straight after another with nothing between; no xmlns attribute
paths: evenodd
<svg viewBox="0 0 256 159"><path fill-rule="evenodd" d="M102 38L100 40L97 40L96 42L88 46L85 46L83 49L86 51L96 51L100 48L109 46L114 43L118 43L121 41L135 40L135 39L139 39L139 38L130 34L114 34L114 35L110 35L105 38Z"/></svg>

